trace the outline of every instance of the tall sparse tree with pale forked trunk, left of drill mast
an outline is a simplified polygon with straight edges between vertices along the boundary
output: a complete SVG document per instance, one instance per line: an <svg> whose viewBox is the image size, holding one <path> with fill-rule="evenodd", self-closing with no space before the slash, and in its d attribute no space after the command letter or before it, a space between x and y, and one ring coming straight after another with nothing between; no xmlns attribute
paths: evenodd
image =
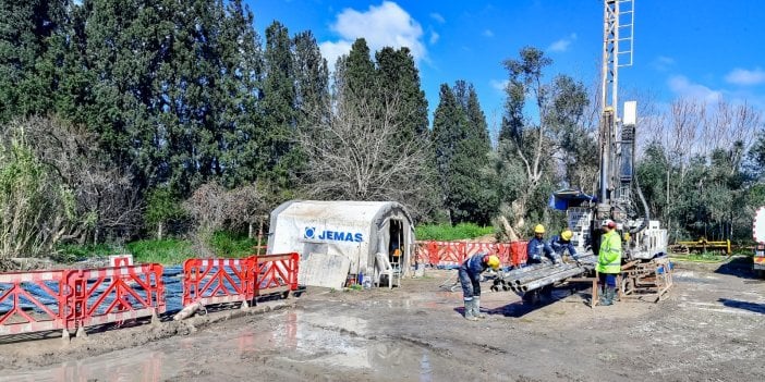
<svg viewBox="0 0 765 382"><path fill-rule="evenodd" d="M525 47L519 56L503 62L509 81L499 135L500 163L495 165L499 177L514 181L502 195L509 206L505 213L514 230L523 227L526 218L544 222L546 200L559 183L552 161L560 149L559 135L576 124L586 106L581 84L562 75L552 83L543 82L545 69L552 63L543 51ZM536 115L527 115L526 110Z"/></svg>

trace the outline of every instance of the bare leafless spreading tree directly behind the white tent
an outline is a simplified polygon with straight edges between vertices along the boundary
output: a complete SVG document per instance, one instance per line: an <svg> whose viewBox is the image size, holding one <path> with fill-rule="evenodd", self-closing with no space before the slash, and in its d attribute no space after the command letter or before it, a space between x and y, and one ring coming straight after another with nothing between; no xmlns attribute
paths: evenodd
<svg viewBox="0 0 765 382"><path fill-rule="evenodd" d="M400 143L396 98L376 107L343 96L330 106L331 119L317 135L302 135L308 158L304 192L319 199L396 200L422 215L421 195L430 187L423 169L427 147Z"/></svg>

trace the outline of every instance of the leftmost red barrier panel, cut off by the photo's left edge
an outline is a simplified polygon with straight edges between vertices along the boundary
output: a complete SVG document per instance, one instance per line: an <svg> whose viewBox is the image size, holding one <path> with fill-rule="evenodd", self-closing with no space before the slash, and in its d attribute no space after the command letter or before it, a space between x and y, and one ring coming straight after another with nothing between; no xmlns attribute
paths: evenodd
<svg viewBox="0 0 765 382"><path fill-rule="evenodd" d="M0 335L66 328L73 317L68 306L70 291L63 283L65 272L58 270L0 274L0 304L10 305L10 309L0 316ZM29 292L32 288L36 289L38 296ZM54 304L41 300L40 291L47 295L45 299L53 300ZM29 307L33 309L29 310Z"/></svg>

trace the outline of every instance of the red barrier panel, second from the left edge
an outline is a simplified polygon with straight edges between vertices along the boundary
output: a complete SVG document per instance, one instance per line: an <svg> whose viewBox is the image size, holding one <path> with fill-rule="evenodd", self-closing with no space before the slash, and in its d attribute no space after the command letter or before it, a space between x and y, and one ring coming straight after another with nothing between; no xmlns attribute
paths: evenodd
<svg viewBox="0 0 765 382"><path fill-rule="evenodd" d="M162 266L157 263L70 270L65 282L77 326L165 312Z"/></svg>

